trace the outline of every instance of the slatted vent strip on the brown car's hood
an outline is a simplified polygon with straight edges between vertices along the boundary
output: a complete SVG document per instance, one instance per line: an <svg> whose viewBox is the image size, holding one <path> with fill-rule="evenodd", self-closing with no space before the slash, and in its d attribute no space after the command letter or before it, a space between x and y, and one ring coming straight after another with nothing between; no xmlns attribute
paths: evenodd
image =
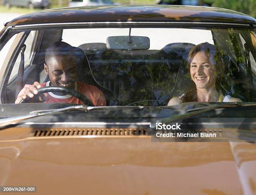
<svg viewBox="0 0 256 195"><path fill-rule="evenodd" d="M84 136L84 135L150 135L149 129L141 128L111 128L111 129L36 129L34 137L54 137L54 136Z"/></svg>

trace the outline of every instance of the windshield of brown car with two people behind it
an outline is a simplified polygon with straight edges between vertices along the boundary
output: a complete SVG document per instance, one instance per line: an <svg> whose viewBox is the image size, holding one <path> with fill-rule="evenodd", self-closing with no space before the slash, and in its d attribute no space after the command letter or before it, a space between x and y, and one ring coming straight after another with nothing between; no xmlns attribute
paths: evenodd
<svg viewBox="0 0 256 195"><path fill-rule="evenodd" d="M132 42L125 48L121 39L128 40L129 31ZM35 81L41 88L79 91L93 106L256 100L255 32L251 29L69 26L16 34L8 53L0 53L5 58L4 104L19 103ZM111 42L113 36L117 41ZM84 104L76 99L51 91L41 101Z"/></svg>

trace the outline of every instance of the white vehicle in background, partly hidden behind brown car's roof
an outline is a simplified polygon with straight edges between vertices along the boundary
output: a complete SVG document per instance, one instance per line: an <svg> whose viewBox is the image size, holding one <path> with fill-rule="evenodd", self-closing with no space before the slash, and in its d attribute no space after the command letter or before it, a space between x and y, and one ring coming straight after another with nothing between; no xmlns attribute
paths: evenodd
<svg viewBox="0 0 256 195"><path fill-rule="evenodd" d="M69 7L81 7L92 5L115 5L112 0L71 0Z"/></svg>

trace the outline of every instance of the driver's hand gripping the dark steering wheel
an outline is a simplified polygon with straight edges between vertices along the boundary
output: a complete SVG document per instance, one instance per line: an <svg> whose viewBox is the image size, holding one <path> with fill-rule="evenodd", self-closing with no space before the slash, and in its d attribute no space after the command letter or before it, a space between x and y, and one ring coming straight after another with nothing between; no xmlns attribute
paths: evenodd
<svg viewBox="0 0 256 195"><path fill-rule="evenodd" d="M41 88L41 85L40 83L38 83L37 81L34 82L33 86L31 86L29 89L25 90L24 94L25 96L22 96L21 98L23 100L25 100L27 97L29 98L32 98L29 102L44 102L44 101L47 101L49 100L49 96L47 93L44 93L44 94L40 94L38 97L34 97L38 94L38 89Z"/></svg>

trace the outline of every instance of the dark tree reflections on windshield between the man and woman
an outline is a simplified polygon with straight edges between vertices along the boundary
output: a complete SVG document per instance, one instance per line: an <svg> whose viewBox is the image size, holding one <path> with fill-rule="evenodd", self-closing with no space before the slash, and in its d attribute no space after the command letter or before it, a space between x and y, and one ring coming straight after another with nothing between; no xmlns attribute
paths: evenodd
<svg viewBox="0 0 256 195"><path fill-rule="evenodd" d="M170 96L186 89L185 61L177 53L170 55L154 50L107 51L101 63L93 63L94 55L87 56L95 78L117 94L120 105L138 101L133 105L147 106L166 105Z"/></svg>

